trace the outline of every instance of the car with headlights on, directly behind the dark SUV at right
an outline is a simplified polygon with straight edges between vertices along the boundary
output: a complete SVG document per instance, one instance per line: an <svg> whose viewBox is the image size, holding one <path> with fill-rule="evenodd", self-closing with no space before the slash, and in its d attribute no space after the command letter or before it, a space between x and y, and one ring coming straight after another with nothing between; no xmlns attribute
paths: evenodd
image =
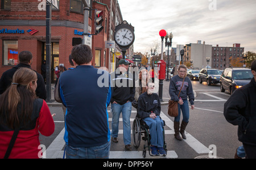
<svg viewBox="0 0 256 170"><path fill-rule="evenodd" d="M220 82L221 72L218 69L203 68L199 73L199 82L207 82L207 85L217 84Z"/></svg>

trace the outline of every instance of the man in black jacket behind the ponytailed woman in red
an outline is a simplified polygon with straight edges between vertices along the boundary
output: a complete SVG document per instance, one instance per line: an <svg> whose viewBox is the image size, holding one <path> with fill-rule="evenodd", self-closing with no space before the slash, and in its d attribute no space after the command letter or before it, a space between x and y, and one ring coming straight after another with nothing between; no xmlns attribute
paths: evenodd
<svg viewBox="0 0 256 170"><path fill-rule="evenodd" d="M31 69L31 64L32 64L32 53L30 51L20 52L19 64L2 74L2 77L0 79L0 94L5 92L5 90L11 85L11 82L13 81L13 75L18 70L18 68L26 67ZM36 83L38 84L36 88L36 96L45 100L46 85L44 84L42 75L39 74L38 72L36 72L36 75L38 76L38 81L36 81Z"/></svg>

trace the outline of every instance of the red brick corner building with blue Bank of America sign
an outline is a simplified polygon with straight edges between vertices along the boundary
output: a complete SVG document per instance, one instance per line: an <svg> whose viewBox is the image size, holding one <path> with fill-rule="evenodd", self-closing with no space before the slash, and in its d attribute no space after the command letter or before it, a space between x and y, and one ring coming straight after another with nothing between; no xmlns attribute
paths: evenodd
<svg viewBox="0 0 256 170"><path fill-rule="evenodd" d="M42 61L46 59L46 10L45 0L0 0L0 76L7 69L18 64L20 51L31 51L33 55L32 69L39 73ZM44 2L44 3L43 3ZM83 38L84 11L81 0L57 1L59 9L52 7L51 20L51 68L53 72L57 65L68 65L68 56L72 50L72 38ZM93 35L92 52L93 65L96 68L110 68L110 57L116 50L105 48L105 42L112 40L116 23L115 13L119 11L119 22L122 22L120 10L116 0L90 0L90 8L104 11L102 18L104 30ZM110 17L113 19L110 26ZM94 11L89 12L88 31L94 34ZM113 61L114 59L114 61Z"/></svg>

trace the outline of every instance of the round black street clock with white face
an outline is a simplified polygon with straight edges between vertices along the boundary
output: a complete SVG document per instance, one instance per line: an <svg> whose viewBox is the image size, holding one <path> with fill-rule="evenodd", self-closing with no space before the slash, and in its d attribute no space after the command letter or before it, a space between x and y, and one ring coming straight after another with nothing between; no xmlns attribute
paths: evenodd
<svg viewBox="0 0 256 170"><path fill-rule="evenodd" d="M129 49L135 40L134 27L124 20L121 24L115 27L114 40L122 49L124 59L126 50Z"/></svg>

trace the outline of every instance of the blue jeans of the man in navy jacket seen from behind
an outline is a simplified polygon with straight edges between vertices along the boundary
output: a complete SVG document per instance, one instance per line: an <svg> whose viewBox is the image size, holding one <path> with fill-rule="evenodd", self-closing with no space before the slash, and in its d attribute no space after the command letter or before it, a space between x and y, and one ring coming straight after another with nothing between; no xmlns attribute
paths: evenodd
<svg viewBox="0 0 256 170"><path fill-rule="evenodd" d="M67 159L108 159L110 151L109 142L95 147L72 147L66 144L66 158Z"/></svg>

